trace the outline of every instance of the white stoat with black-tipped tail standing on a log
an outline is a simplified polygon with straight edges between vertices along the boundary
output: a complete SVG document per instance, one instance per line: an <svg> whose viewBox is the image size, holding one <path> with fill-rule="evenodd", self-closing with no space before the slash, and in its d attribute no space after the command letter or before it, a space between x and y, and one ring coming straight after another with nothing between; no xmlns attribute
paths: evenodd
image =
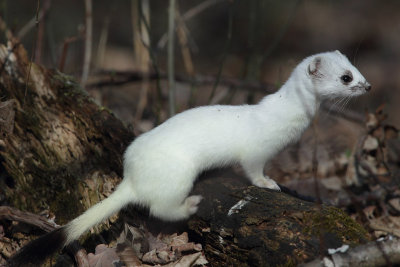
<svg viewBox="0 0 400 267"><path fill-rule="evenodd" d="M204 170L240 164L258 187L280 190L264 165L309 126L321 101L364 94L371 85L339 51L304 59L286 83L256 105L203 106L136 138L114 193L67 225L22 248L10 265L40 262L128 204L165 221L187 219L202 197L188 196Z"/></svg>

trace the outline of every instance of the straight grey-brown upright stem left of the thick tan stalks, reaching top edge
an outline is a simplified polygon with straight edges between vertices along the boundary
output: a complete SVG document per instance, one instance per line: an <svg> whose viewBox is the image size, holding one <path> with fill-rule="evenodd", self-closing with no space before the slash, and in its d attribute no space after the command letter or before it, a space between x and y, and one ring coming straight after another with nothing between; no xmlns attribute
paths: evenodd
<svg viewBox="0 0 400 267"><path fill-rule="evenodd" d="M81 86L85 87L86 81L89 77L90 60L92 58L92 34L93 34L93 21L92 21L92 0L85 1L85 53L83 58L83 70L81 78Z"/></svg>

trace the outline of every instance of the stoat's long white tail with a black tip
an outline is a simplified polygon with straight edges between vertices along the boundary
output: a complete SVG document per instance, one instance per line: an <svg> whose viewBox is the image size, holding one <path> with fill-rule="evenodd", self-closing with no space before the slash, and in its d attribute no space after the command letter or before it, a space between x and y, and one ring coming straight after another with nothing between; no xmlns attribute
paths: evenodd
<svg viewBox="0 0 400 267"><path fill-rule="evenodd" d="M21 248L8 261L8 265L38 266L48 256L69 245L84 232L118 212L124 206L134 202L135 198L131 188L122 182L108 198L97 203L81 216Z"/></svg>

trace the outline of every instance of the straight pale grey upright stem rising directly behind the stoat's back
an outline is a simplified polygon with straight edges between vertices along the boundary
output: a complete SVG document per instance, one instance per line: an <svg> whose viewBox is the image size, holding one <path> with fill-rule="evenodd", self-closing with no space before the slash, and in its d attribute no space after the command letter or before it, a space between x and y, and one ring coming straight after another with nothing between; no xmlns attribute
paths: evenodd
<svg viewBox="0 0 400 267"><path fill-rule="evenodd" d="M174 32L175 32L175 0L169 0L168 11L168 103L169 115L175 114L175 64L174 64Z"/></svg>

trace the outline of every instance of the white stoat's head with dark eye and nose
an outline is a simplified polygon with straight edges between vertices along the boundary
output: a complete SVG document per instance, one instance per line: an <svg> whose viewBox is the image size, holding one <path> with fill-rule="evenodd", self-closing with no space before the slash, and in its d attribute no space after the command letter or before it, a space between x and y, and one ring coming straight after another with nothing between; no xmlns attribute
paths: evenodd
<svg viewBox="0 0 400 267"><path fill-rule="evenodd" d="M311 56L307 75L322 99L358 96L371 90L364 76L337 50Z"/></svg>

